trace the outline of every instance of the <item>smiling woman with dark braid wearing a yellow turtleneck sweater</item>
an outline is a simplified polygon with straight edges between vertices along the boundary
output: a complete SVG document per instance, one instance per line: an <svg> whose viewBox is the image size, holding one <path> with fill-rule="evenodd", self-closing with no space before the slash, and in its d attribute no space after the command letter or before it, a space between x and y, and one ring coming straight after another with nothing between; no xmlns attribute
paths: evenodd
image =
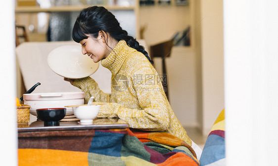
<svg viewBox="0 0 278 166"><path fill-rule="evenodd" d="M188 143L191 140L175 116L164 93L153 62L142 46L120 27L115 16L104 7L88 7L78 16L73 40L82 53L112 73L111 95L103 93L91 78L71 80L71 84L101 105L98 117L118 117L131 128L166 131Z"/></svg>

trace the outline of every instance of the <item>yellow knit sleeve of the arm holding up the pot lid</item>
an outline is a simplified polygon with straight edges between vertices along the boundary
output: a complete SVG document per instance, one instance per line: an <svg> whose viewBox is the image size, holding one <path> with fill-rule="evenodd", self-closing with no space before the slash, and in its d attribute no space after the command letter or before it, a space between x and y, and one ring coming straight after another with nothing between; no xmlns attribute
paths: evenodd
<svg viewBox="0 0 278 166"><path fill-rule="evenodd" d="M109 102L110 95L102 92L98 84L91 77L74 80L73 85L78 87L84 92L85 104L88 103L89 99L93 96L95 102Z"/></svg>

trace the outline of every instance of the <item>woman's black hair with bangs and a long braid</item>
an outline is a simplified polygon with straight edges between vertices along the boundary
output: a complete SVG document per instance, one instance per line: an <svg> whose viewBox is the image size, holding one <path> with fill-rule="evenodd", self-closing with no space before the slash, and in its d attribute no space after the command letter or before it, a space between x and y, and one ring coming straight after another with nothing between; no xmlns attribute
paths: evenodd
<svg viewBox="0 0 278 166"><path fill-rule="evenodd" d="M109 33L117 41L125 40L129 47L141 52L153 64L144 47L140 46L132 36L129 36L115 16L102 6L91 6L81 10L72 30L72 38L75 42L80 43L83 39L88 38L87 34L96 38L99 31ZM105 42L108 43L107 40Z"/></svg>

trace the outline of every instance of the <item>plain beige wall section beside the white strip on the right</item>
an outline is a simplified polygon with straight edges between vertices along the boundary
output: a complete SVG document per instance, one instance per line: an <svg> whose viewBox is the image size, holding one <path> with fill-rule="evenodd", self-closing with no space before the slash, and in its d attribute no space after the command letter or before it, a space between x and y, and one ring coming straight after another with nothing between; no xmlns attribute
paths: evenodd
<svg viewBox="0 0 278 166"><path fill-rule="evenodd" d="M201 0L202 117L207 135L224 109L223 2Z"/></svg>

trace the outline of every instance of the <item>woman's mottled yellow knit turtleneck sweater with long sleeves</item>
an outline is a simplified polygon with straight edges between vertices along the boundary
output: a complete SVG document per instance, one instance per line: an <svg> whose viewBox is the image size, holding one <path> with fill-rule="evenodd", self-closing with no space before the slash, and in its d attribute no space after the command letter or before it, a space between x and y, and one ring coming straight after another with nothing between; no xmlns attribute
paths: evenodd
<svg viewBox="0 0 278 166"><path fill-rule="evenodd" d="M91 96L101 105L98 117L118 117L131 128L166 131L188 143L191 140L175 116L164 93L158 74L142 53L120 41L102 66L111 73L111 95L103 93L97 83L86 77L73 85L85 93L87 103Z"/></svg>

